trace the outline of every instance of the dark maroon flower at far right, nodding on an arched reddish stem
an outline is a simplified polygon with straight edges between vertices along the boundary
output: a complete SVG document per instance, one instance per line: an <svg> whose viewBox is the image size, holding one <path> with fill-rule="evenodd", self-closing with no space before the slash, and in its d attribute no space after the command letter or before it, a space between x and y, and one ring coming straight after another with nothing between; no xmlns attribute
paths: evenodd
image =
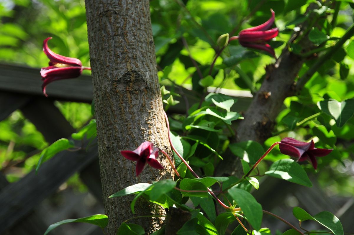
<svg viewBox="0 0 354 235"><path fill-rule="evenodd" d="M297 161L309 160L315 170L317 169L316 157L324 157L333 150L315 148L313 140L307 143L290 137L286 137L280 141L279 149L282 154L298 157Z"/></svg>

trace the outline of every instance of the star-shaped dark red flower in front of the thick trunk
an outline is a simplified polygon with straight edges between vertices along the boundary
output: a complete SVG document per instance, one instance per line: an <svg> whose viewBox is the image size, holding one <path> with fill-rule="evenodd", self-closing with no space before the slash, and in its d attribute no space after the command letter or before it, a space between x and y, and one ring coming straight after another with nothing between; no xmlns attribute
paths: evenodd
<svg viewBox="0 0 354 235"><path fill-rule="evenodd" d="M136 176L138 176L146 166L156 169L163 169L164 167L156 160L159 155L159 149L154 148L154 144L150 141L145 141L137 149L133 151L120 151L120 153L128 160L136 161Z"/></svg>

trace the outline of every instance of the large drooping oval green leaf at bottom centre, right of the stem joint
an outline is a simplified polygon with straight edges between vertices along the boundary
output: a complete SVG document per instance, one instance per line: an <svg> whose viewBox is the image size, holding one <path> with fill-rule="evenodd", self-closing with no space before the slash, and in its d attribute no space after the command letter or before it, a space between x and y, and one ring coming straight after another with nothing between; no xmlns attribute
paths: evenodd
<svg viewBox="0 0 354 235"><path fill-rule="evenodd" d="M231 188L228 190L229 195L236 201L241 210L243 211L246 219L250 222L252 227L256 230L261 228L263 211L262 206L249 192Z"/></svg>

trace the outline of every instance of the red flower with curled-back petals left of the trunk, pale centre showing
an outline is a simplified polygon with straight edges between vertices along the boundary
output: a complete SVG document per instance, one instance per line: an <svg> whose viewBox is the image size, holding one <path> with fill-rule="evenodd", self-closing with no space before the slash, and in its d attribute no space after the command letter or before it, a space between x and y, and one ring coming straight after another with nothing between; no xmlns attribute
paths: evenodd
<svg viewBox="0 0 354 235"><path fill-rule="evenodd" d="M90 67L83 67L79 59L61 56L54 53L48 47L49 39L52 38L49 37L43 41L43 51L50 59L49 66L41 69L41 76L43 81L42 91L45 96L47 96L46 86L52 81L77 78L81 75L82 70L91 70Z"/></svg>

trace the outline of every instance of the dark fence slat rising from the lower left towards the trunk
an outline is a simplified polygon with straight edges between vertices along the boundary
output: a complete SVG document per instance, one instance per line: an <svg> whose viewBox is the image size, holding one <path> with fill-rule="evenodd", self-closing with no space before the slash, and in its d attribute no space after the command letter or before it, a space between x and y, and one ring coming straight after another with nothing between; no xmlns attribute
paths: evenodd
<svg viewBox="0 0 354 235"><path fill-rule="evenodd" d="M79 143L78 143L79 144ZM63 151L45 162L16 183L7 185L0 192L0 234L16 224L72 174L81 171L97 159L97 145L88 152Z"/></svg>

